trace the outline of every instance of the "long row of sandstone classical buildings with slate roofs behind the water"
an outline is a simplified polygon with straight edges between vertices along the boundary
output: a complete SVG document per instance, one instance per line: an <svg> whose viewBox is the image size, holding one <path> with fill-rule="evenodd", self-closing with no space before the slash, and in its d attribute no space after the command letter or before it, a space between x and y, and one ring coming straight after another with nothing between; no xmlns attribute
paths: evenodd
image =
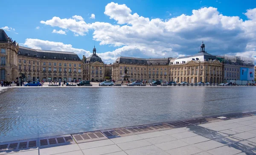
<svg viewBox="0 0 256 155"><path fill-rule="evenodd" d="M191 56L177 58L142 59L120 56L113 64L104 64L96 54L82 59L73 52L37 50L19 46L0 29L0 80L16 81L68 81L90 80L101 82L108 76L122 81L126 67L129 81L155 80L174 82L212 82L250 79L255 72L253 58L214 56L201 50ZM245 74L241 73L241 70ZM252 71L253 70L253 71Z"/></svg>

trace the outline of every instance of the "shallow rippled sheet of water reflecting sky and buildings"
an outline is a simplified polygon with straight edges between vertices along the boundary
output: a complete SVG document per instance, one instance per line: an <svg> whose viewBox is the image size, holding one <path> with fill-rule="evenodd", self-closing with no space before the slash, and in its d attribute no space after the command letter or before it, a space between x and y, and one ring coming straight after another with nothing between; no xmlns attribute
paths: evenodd
<svg viewBox="0 0 256 155"><path fill-rule="evenodd" d="M12 88L0 94L0 140L255 110L255 90L256 87ZM6 97L10 94L15 97Z"/></svg>

